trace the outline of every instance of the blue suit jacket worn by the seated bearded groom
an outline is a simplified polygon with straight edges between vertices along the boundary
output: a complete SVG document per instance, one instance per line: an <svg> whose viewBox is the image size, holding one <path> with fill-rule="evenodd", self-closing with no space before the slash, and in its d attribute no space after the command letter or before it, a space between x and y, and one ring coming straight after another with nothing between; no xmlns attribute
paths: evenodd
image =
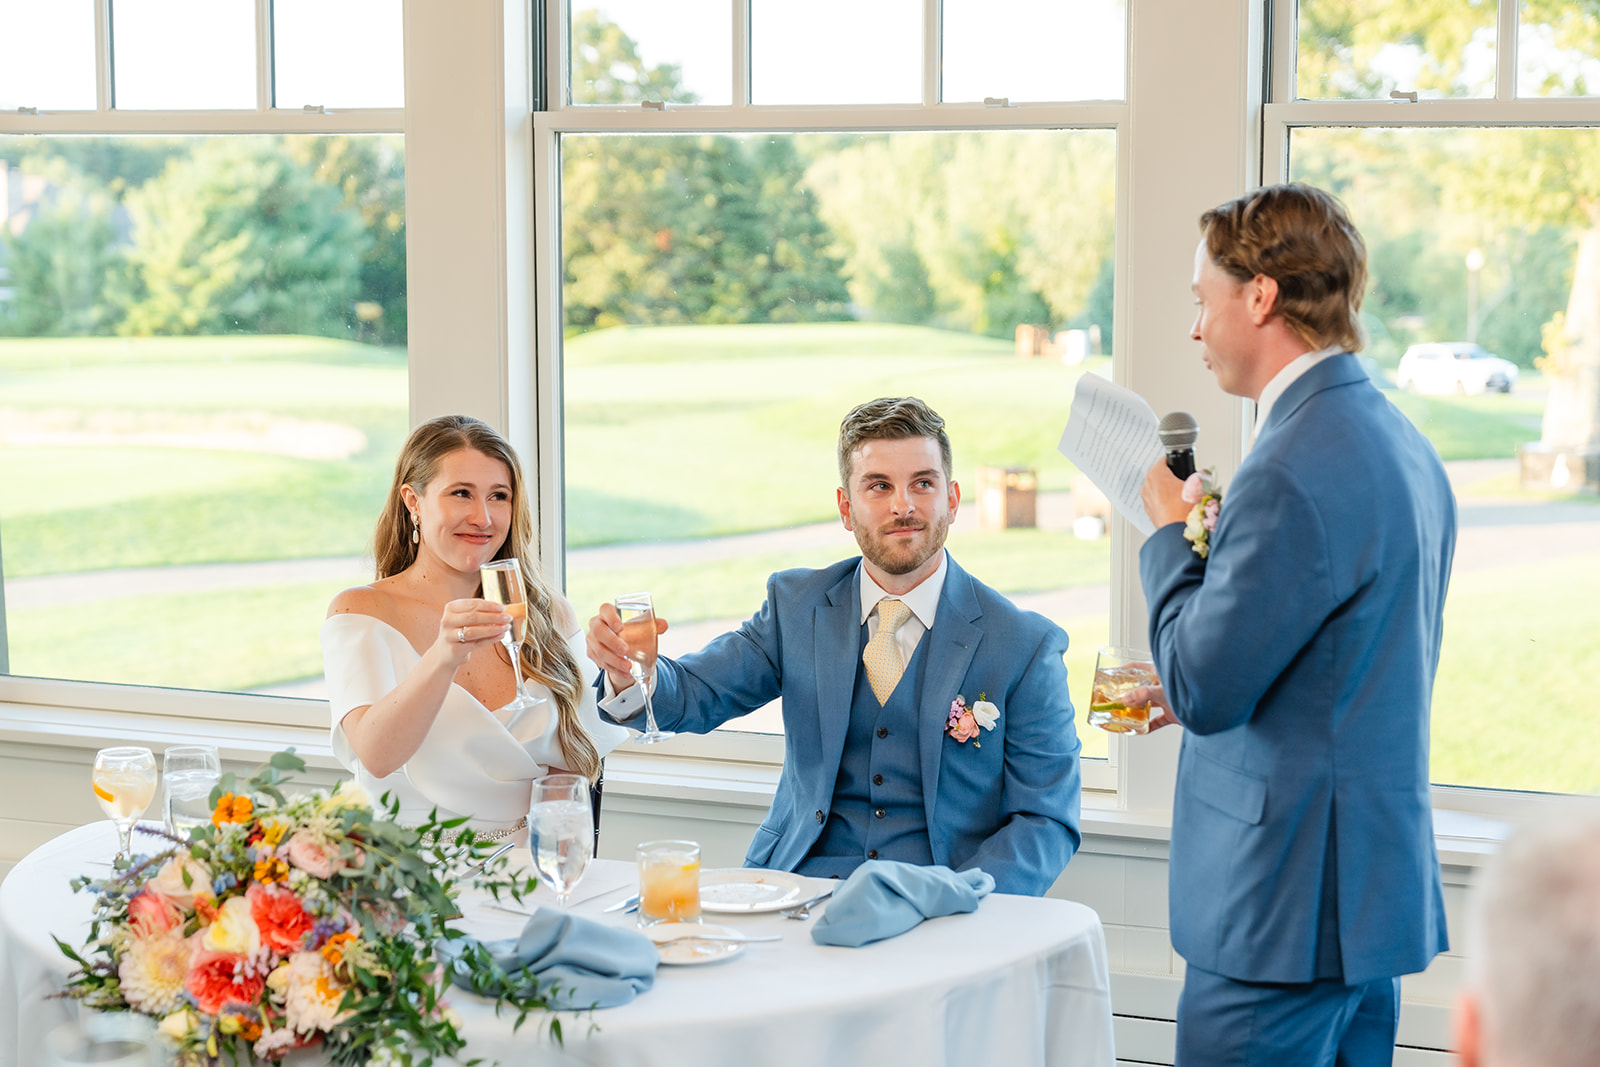
<svg viewBox="0 0 1600 1067"><path fill-rule="evenodd" d="M746 864L794 870L834 803L859 667L859 557L766 582L766 603L733 633L656 661L656 721L706 733L782 696L784 769ZM1002 893L1043 894L1077 851L1078 736L1061 627L949 561L918 694L928 840L936 864L982 867ZM923 649L918 649L923 651ZM950 702L1000 709L974 745L946 734Z"/></svg>

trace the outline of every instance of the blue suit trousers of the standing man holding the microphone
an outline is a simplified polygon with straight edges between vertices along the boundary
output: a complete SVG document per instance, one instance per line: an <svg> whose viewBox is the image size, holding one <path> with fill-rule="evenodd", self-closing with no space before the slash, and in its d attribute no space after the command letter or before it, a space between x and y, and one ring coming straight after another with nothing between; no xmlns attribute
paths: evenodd
<svg viewBox="0 0 1600 1067"><path fill-rule="evenodd" d="M1398 977L1240 982L1190 966L1178 1067L1387 1067L1398 1025Z"/></svg>

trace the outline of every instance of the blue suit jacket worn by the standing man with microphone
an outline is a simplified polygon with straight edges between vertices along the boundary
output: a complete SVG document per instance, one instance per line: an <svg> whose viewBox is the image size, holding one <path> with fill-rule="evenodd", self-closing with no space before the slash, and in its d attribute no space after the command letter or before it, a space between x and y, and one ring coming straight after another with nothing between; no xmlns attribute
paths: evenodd
<svg viewBox="0 0 1600 1067"><path fill-rule="evenodd" d="M1274 405L1208 561L1182 530L1139 553L1186 728L1173 947L1304 982L1328 928L1346 982L1421 971L1446 947L1427 741L1456 509L1438 454L1334 355Z"/></svg>

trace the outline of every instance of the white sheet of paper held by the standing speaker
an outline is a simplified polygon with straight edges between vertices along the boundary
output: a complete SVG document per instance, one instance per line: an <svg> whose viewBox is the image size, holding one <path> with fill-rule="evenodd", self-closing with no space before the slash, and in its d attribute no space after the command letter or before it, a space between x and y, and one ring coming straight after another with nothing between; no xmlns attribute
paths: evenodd
<svg viewBox="0 0 1600 1067"><path fill-rule="evenodd" d="M1157 426L1160 419L1144 397L1099 374L1083 374L1056 445L1146 537L1155 533L1155 523L1144 514L1139 486L1163 456Z"/></svg>

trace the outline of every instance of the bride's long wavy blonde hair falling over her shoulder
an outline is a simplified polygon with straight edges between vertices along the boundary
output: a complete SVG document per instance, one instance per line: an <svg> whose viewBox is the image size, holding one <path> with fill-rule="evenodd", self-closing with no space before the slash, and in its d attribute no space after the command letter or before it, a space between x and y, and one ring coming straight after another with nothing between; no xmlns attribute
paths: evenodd
<svg viewBox="0 0 1600 1067"><path fill-rule="evenodd" d="M411 544L411 514L400 496L400 488L410 485L411 491L421 496L438 474L445 456L461 450L483 453L506 464L510 478L510 530L494 558L515 558L520 563L523 593L528 598L528 633L518 649L522 672L550 689L557 712L555 739L566 755L566 769L592 782L600 777L600 753L578 721L578 705L582 702L586 683L565 635L555 624L555 592L539 571L533 510L528 507L522 464L517 462L517 453L506 438L493 427L466 414L446 414L411 430L411 437L400 450L400 459L395 461L389 499L373 533L378 577L390 577L416 563L418 545Z"/></svg>

